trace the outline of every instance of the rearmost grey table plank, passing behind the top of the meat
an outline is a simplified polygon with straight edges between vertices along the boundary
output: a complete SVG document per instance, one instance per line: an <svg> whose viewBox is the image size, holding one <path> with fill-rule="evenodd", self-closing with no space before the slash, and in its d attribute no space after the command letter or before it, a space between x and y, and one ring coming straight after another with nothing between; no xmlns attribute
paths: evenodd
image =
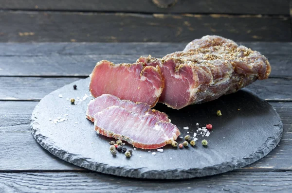
<svg viewBox="0 0 292 193"><path fill-rule="evenodd" d="M270 77L292 78L292 43L242 42L272 65ZM162 57L186 43L0 43L0 76L88 76L102 59L132 63L141 55ZM33 70L32 70L33 69Z"/></svg>

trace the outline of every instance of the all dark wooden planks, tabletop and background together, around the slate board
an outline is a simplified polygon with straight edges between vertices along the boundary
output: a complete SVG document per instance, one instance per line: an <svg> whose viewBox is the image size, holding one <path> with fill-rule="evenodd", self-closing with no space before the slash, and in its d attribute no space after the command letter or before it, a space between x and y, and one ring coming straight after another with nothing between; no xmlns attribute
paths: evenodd
<svg viewBox="0 0 292 193"><path fill-rule="evenodd" d="M231 38L269 58L270 78L248 86L284 125L266 157L221 175L146 180L76 167L34 140L38 101L88 77L97 61L160 57L203 35ZM0 0L0 42L0 193L291 193L292 0Z"/></svg>

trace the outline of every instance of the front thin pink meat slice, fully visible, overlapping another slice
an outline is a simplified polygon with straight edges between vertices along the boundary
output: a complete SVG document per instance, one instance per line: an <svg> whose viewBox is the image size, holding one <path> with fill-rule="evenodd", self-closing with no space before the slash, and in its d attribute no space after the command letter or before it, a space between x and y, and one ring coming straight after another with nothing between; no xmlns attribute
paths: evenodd
<svg viewBox="0 0 292 193"><path fill-rule="evenodd" d="M176 140L177 126L159 121L155 115L132 113L119 106L110 106L94 115L97 133L125 140L135 147L156 149Z"/></svg>

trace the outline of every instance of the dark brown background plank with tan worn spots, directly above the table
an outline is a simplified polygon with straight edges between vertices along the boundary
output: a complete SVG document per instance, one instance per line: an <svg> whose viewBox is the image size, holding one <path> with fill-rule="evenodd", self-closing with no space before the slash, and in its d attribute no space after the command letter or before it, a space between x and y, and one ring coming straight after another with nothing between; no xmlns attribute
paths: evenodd
<svg viewBox="0 0 292 193"><path fill-rule="evenodd" d="M0 42L292 41L289 16L2 11L0 26Z"/></svg>

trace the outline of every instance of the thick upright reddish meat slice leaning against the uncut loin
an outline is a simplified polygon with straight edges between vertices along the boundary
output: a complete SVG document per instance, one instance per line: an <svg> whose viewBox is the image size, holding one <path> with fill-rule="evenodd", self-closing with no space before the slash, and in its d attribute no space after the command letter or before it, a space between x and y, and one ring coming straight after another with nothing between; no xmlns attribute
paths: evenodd
<svg viewBox="0 0 292 193"><path fill-rule="evenodd" d="M143 63L113 64L98 62L91 73L90 91L93 97L112 94L120 99L154 106L164 88L159 66Z"/></svg>

